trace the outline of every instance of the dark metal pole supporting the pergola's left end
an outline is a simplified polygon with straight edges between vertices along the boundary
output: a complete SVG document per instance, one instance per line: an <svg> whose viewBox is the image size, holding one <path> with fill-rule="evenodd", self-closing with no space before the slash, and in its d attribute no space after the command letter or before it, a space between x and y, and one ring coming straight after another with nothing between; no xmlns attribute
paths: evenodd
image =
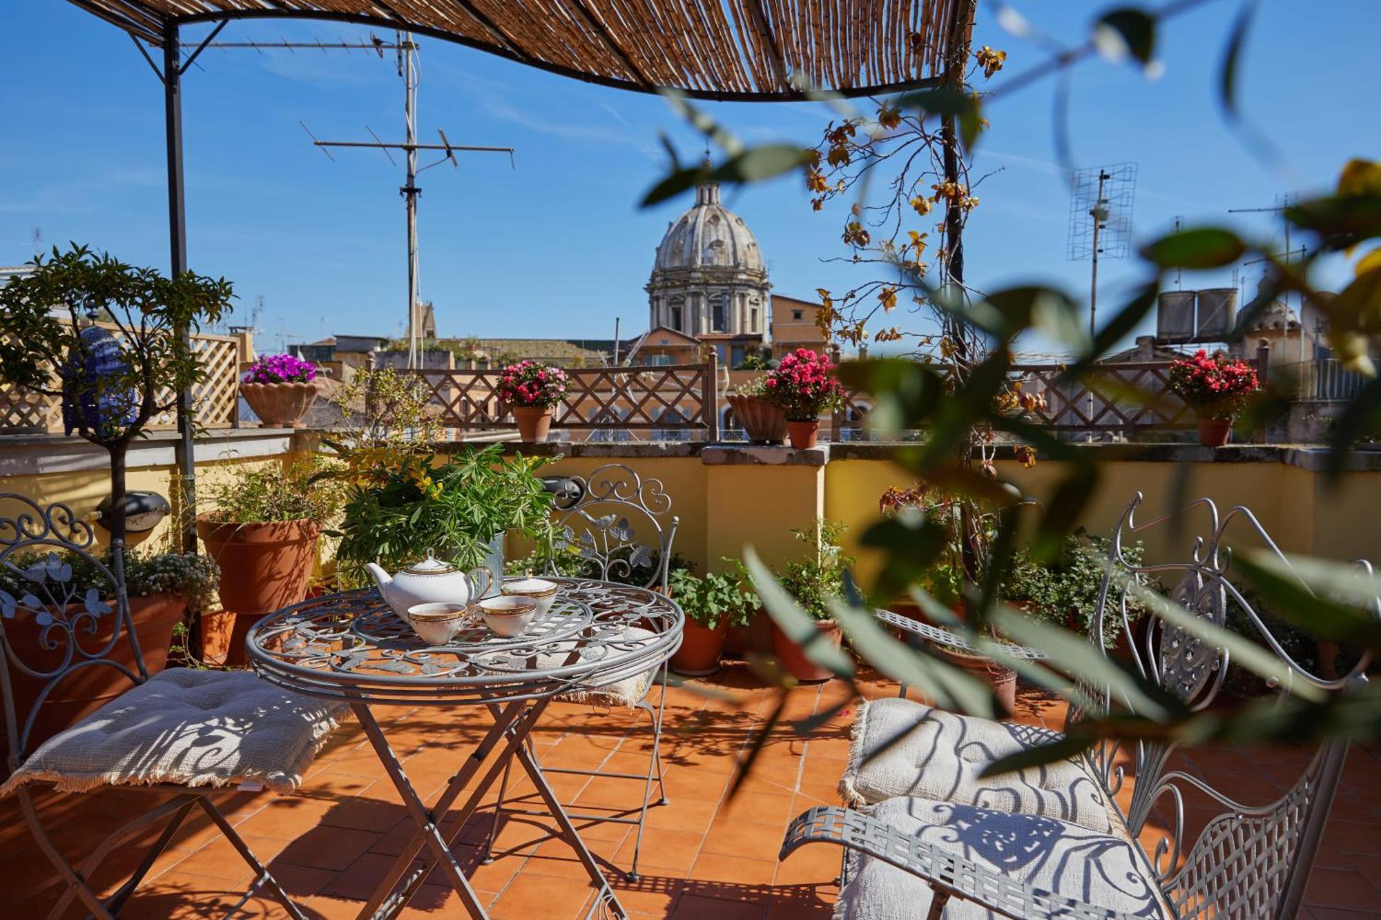
<svg viewBox="0 0 1381 920"><path fill-rule="evenodd" d="M168 254L173 278L186 271L186 199L182 192L182 54L178 26L163 26L163 117L167 126L168 164ZM177 330L182 347L191 349L192 336L186 326ZM177 395L177 431L174 446L178 478L181 481L184 553L196 553L196 454L192 448L192 390Z"/></svg>

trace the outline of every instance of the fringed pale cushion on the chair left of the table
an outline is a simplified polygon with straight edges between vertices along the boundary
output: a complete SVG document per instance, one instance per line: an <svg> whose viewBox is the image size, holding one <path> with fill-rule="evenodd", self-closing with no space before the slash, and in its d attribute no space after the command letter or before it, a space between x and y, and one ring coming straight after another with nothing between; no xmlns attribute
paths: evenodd
<svg viewBox="0 0 1381 920"><path fill-rule="evenodd" d="M291 792L342 709L249 671L168 669L46 740L0 786L0 796L30 782L86 792L260 780Z"/></svg>

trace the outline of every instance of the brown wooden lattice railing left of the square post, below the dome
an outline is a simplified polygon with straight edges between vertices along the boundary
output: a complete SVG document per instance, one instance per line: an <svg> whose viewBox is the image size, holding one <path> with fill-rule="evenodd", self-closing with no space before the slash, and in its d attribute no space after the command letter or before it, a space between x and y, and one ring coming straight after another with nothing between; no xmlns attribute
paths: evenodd
<svg viewBox="0 0 1381 920"><path fill-rule="evenodd" d="M566 367L570 391L552 416L554 428L628 431L704 431L720 437L715 362ZM512 414L497 395L501 369L414 370L432 391L449 428L512 428Z"/></svg>

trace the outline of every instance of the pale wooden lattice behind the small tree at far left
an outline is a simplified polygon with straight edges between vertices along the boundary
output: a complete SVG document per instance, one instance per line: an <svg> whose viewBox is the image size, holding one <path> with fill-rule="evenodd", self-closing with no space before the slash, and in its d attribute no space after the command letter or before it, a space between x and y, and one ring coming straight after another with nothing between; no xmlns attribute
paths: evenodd
<svg viewBox="0 0 1381 920"><path fill-rule="evenodd" d="M116 338L120 337L119 329L101 325ZM199 333L192 336L192 348L202 356L206 369L206 380L192 388L197 423L206 428L233 427L239 419L239 340L233 336ZM57 385L57 374L52 378ZM163 392L159 401L168 402L171 395ZM177 428L177 413L160 413L148 427ZM4 430L61 432L62 403L57 396L46 396L0 380L0 431Z"/></svg>

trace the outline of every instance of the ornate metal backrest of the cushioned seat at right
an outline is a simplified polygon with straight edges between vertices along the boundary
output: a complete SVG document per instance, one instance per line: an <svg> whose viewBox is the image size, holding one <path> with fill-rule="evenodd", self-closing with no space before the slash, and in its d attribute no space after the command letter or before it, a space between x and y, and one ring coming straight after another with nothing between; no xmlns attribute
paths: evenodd
<svg viewBox="0 0 1381 920"><path fill-rule="evenodd" d="M1171 598L1177 604L1218 626L1228 623L1230 606L1240 609L1243 616L1239 623L1246 622L1250 624L1248 631L1254 633L1247 638L1269 649L1288 667L1287 684L1273 688L1282 695L1288 695L1295 681L1345 692L1348 687L1366 680L1366 658L1346 674L1331 680L1300 664L1250 598L1232 583L1232 548L1225 543L1225 532L1232 524L1240 524L1253 543L1288 565L1284 553L1250 510L1236 506L1219 515L1211 500L1199 499L1179 511L1138 524L1135 514L1141 503L1142 495L1137 493L1113 532L1110 564L1103 576L1090 635L1090 644L1101 653L1108 655L1102 635L1103 622L1113 619L1120 624L1139 674L1175 693L1195 710L1214 703L1228 675L1229 655L1225 649L1210 646L1168 624L1155 611L1148 613L1143 630L1138 633L1132 629L1128 616L1131 580L1159 579L1163 584L1174 584ZM1189 525L1196 514L1204 515L1207 526L1201 524L1201 529L1190 530ZM1177 542L1181 535L1193 536L1189 558L1145 565L1130 562L1126 550L1153 528L1168 529L1171 539ZM1370 572L1369 564L1359 562L1359 566ZM1109 605L1114 605L1112 617L1106 616ZM1375 608L1371 613L1375 615ZM1080 689L1097 706L1108 706L1106 688ZM1081 717L1083 713L1072 707L1069 718L1074 721ZM1148 856L1177 916L1182 920L1294 917L1333 804L1346 747L1346 739L1323 745L1308 765L1301 768L1294 785L1280 798L1265 805L1242 804L1199 776L1168 769L1175 750L1172 745L1137 742L1134 750L1127 750L1135 776L1126 814L1132 836L1141 834L1157 805L1163 814L1170 812L1168 834ZM1120 743L1103 742L1088 754L1109 797L1114 797L1123 783L1121 761L1127 758L1123 753ZM1186 796L1196 803L1207 800L1207 808L1213 814L1188 848L1184 845Z"/></svg>

